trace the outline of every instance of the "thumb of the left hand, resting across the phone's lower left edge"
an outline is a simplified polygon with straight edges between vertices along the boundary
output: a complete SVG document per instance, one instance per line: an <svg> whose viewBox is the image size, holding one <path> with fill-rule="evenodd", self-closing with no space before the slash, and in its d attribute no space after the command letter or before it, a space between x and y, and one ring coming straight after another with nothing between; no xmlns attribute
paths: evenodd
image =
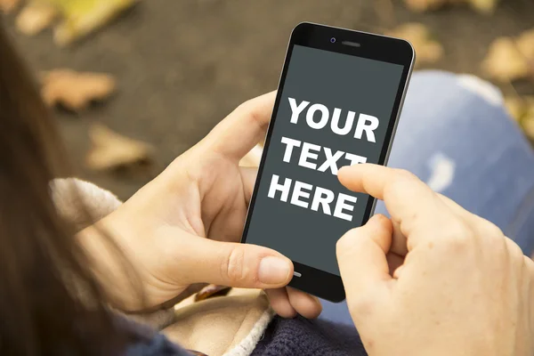
<svg viewBox="0 0 534 356"><path fill-rule="evenodd" d="M293 278L293 263L267 247L213 239L183 239L180 271L185 283L229 287L284 287Z"/></svg>

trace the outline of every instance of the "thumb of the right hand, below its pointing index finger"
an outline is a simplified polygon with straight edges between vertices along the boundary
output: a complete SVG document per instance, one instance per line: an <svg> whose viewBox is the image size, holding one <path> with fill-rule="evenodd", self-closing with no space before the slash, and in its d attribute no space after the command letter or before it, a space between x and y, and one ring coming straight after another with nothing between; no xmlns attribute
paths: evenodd
<svg viewBox="0 0 534 356"><path fill-rule="evenodd" d="M349 304L360 298L368 300L376 287L392 279L385 257L391 244L392 222L381 214L337 241L337 263Z"/></svg>

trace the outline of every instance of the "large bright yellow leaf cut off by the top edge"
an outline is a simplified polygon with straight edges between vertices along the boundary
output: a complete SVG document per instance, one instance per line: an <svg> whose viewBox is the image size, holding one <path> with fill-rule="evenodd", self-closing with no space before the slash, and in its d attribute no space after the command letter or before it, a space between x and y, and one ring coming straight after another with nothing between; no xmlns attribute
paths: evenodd
<svg viewBox="0 0 534 356"><path fill-rule="evenodd" d="M48 0L61 11L64 20L54 29L54 41L71 44L78 38L101 28L121 12L136 4L135 0Z"/></svg>

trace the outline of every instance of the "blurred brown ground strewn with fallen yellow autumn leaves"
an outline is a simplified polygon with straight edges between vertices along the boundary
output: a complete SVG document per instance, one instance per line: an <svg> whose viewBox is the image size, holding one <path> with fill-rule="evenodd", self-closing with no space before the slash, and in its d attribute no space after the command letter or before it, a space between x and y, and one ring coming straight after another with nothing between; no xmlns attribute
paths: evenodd
<svg viewBox="0 0 534 356"><path fill-rule="evenodd" d="M417 69L498 85L511 119L534 137L534 0L0 0L0 8L77 175L123 199L239 103L276 89L301 21L406 37Z"/></svg>

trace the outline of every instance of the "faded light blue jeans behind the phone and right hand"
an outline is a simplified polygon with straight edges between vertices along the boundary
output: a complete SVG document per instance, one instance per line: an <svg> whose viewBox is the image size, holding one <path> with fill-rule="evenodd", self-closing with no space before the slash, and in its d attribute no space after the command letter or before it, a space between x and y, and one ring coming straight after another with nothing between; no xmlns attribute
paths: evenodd
<svg viewBox="0 0 534 356"><path fill-rule="evenodd" d="M417 174L532 254L534 153L493 85L467 75L415 73L388 166ZM376 213L386 214L383 202ZM321 319L352 325L346 303L322 303Z"/></svg>

